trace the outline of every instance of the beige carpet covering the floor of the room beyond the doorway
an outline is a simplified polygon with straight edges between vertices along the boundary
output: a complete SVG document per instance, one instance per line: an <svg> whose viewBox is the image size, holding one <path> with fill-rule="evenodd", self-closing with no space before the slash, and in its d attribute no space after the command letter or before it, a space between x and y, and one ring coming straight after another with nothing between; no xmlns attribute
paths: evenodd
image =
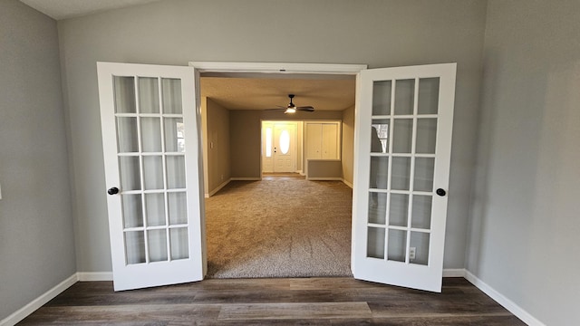
<svg viewBox="0 0 580 326"><path fill-rule="evenodd" d="M340 181L232 181L206 199L209 278L352 276L352 190Z"/></svg>

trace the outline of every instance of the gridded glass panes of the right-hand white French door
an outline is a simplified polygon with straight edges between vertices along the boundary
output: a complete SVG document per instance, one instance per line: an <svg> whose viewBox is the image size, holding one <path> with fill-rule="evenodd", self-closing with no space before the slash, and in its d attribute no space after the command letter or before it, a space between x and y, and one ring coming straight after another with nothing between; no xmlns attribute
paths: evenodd
<svg viewBox="0 0 580 326"><path fill-rule="evenodd" d="M367 257L429 264L439 78L374 82Z"/></svg>

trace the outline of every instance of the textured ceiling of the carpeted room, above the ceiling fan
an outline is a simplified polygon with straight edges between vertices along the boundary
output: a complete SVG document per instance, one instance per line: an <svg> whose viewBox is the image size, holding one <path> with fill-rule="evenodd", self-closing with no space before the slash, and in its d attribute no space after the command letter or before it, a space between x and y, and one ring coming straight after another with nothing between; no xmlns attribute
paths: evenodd
<svg viewBox="0 0 580 326"><path fill-rule="evenodd" d="M344 110L354 105L355 80L202 77L201 96L229 110L265 110L285 107L288 94L296 106L315 110Z"/></svg>

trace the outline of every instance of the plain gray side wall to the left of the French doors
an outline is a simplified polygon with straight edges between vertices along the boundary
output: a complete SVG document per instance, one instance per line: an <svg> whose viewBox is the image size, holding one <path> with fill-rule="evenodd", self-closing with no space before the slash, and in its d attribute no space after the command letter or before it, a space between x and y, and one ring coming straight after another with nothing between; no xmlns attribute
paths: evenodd
<svg viewBox="0 0 580 326"><path fill-rule="evenodd" d="M56 22L0 1L0 321L76 272Z"/></svg>

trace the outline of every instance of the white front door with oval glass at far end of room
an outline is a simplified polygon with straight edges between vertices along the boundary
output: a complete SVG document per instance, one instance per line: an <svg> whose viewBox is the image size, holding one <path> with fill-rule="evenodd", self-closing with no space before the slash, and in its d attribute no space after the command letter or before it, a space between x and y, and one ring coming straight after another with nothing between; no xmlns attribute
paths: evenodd
<svg viewBox="0 0 580 326"><path fill-rule="evenodd" d="M295 123L274 124L274 172L295 172Z"/></svg>

